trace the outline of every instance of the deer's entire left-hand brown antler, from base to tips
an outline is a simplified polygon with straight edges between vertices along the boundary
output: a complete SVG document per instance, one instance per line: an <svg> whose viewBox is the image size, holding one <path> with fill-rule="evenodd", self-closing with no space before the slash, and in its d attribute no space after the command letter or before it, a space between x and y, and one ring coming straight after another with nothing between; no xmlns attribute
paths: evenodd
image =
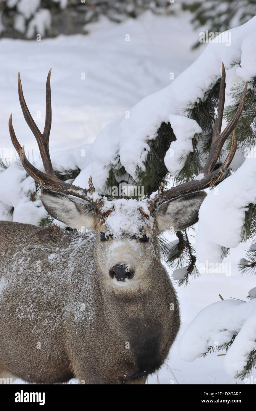
<svg viewBox="0 0 256 411"><path fill-rule="evenodd" d="M97 195L97 193L95 193L95 188L93 187L91 176L88 181L90 189L83 189L81 187L77 187L75 185L68 184L64 181L59 180L54 173L54 169L52 167L50 154L49 154L49 136L50 136L50 130L51 130L50 79L51 79L51 70L49 71L49 74L47 76L45 125L44 125L44 132L41 133L28 110L28 106L23 96L20 74L18 74L18 90L19 90L19 101L21 104L21 109L22 109L24 118L30 130L33 132L35 139L37 141L45 173L43 173L40 170L37 170L35 166L33 166L33 164L31 164L28 161L25 155L24 146L21 148L21 145L19 144L19 141L16 138L14 128L12 125L12 114L11 114L9 118L9 132L10 132L10 136L12 139L12 143L14 145L14 148L19 154L21 164L23 165L24 169L35 181L37 181L42 186L49 188L51 190L62 192L64 194L71 194L72 196L84 199L90 202L92 205L94 205L99 211L101 211L104 205L104 200L99 194Z"/></svg>

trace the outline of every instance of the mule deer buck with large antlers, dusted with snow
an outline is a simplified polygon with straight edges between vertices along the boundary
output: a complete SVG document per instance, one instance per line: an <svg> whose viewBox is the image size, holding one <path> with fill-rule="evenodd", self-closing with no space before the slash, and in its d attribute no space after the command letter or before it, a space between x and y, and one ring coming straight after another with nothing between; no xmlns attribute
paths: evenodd
<svg viewBox="0 0 256 411"><path fill-rule="evenodd" d="M37 140L43 173L30 164L24 146L9 131L24 169L40 185L49 214L74 229L0 224L0 374L35 383L72 377L86 384L143 384L168 355L179 330L179 305L161 264L158 234L198 221L203 190L224 178L237 141L233 120L221 133L225 69L209 158L200 180L167 190L161 184L149 199L113 199L58 180L49 156L50 73L44 132L37 128L23 97L24 118ZM216 162L230 132L226 160ZM0 375L1 376L1 375Z"/></svg>

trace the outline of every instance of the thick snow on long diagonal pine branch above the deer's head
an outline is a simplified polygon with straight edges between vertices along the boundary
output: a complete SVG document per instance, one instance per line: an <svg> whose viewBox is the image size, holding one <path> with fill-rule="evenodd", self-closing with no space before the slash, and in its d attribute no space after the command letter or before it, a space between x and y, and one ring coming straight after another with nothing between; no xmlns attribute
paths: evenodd
<svg viewBox="0 0 256 411"><path fill-rule="evenodd" d="M189 124L185 120L186 113L196 102L206 99L221 76L221 61L227 69L227 95L234 84L256 76L256 17L229 32L230 46L209 43L200 57L168 87L145 97L130 110L128 117L123 115L102 130L92 144L91 169L97 189L104 187L109 169L115 170L120 165L136 181L138 170L145 170L150 142L158 138L163 122L173 123L177 134L177 141L170 145L173 156L167 153L165 165L172 174L182 169L185 154L193 150L194 134L202 131L195 121Z"/></svg>

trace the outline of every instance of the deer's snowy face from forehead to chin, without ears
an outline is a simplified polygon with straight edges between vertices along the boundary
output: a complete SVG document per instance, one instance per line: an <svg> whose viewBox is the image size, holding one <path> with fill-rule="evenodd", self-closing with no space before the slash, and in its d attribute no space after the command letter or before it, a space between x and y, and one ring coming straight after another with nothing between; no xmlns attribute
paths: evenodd
<svg viewBox="0 0 256 411"><path fill-rule="evenodd" d="M112 201L114 210L98 227L95 259L105 281L127 286L147 275L154 256L153 217L137 200Z"/></svg>

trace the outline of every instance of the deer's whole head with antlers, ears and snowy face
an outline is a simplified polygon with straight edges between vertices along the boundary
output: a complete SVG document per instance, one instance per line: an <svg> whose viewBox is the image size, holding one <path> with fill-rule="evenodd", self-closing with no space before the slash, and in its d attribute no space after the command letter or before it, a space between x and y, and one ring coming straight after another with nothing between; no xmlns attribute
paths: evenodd
<svg viewBox="0 0 256 411"><path fill-rule="evenodd" d="M12 143L28 174L43 189L41 199L49 214L75 229L85 227L97 233L95 261L107 286L131 286L149 275L153 260L160 259L157 236L170 227L174 231L185 229L198 221L198 211L206 196L203 189L223 180L235 155L237 140L235 127L244 107L247 85L234 118L221 133L225 102L225 69L222 63L222 77L219 104L214 123L209 158L201 171L200 179L164 190L163 184L157 193L148 199L114 199L109 201L95 191L92 178L89 189L82 189L59 180L53 170L49 155L49 134L51 129L51 70L46 85L46 120L44 132L35 124L26 105L20 75L18 75L19 100L24 118L32 130L40 150L44 171L36 169L25 155L24 146L16 139L9 119ZM215 169L223 144L233 132L233 142L226 160Z"/></svg>

